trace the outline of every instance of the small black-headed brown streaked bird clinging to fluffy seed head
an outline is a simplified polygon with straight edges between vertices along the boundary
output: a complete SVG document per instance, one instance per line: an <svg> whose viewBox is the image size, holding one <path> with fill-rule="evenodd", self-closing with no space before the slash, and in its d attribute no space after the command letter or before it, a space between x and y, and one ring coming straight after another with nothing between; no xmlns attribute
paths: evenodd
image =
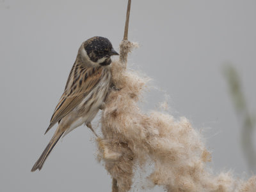
<svg viewBox="0 0 256 192"><path fill-rule="evenodd" d="M105 106L104 101L111 84L112 55L119 54L108 38L94 36L82 43L69 73L65 90L45 133L57 122L58 128L31 172L41 170L60 138L81 124L86 124L97 137L91 121L99 109L104 109Z"/></svg>

